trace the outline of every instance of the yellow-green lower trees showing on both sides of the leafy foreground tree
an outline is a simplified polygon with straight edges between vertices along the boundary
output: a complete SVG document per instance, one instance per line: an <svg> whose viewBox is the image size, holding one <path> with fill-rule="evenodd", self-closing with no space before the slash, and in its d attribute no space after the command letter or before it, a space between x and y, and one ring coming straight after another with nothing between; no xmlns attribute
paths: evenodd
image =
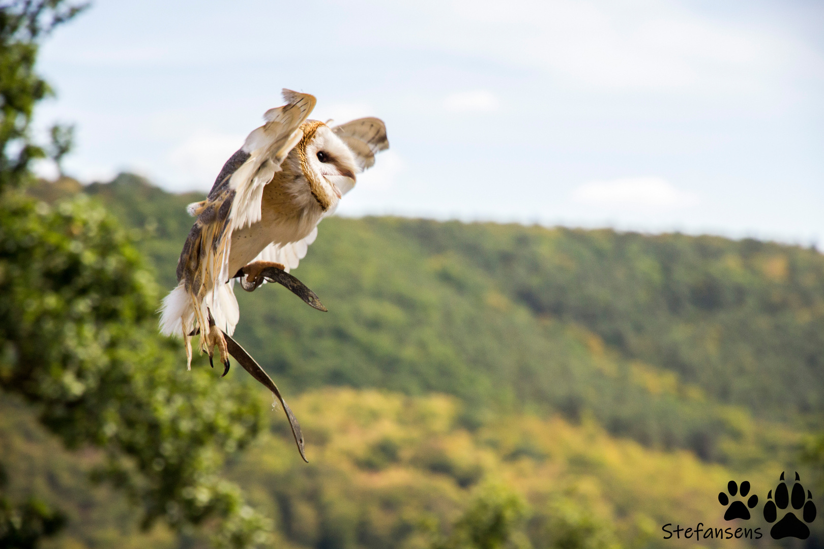
<svg viewBox="0 0 824 549"><path fill-rule="evenodd" d="M500 547L692 547L665 543L660 528L725 528L717 496L726 483L749 480L763 500L784 467L732 471L688 451L616 439L588 418L574 425L560 416L508 415L470 430L461 401L442 394L324 388L291 406L310 463L302 463L283 416L272 410L271 429L227 470L271 519L274 547L478 547L467 540L485 527L494 539L496 509L508 518ZM763 434L742 429L744 439ZM51 547L203 547L202 536L176 536L162 524L141 532L121 493L89 481L103 458L88 448L66 451L30 408L0 400L0 461L14 468L10 493L37 494L68 514L67 531ZM750 525L767 531L757 514ZM737 544L724 540L723 547Z"/></svg>

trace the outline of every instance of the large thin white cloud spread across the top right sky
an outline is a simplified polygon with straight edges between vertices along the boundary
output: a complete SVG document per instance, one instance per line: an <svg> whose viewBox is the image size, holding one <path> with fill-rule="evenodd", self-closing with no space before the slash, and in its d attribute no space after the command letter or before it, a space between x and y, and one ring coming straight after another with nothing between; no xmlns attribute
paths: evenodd
<svg viewBox="0 0 824 549"><path fill-rule="evenodd" d="M443 2L428 9L445 11ZM563 83L627 91L751 93L788 67L822 67L792 36L681 2L454 0L428 30L449 49L541 67ZM451 16L451 17L450 17ZM457 21L457 22L456 22ZM440 30L440 29L439 29ZM799 63L803 60L803 64Z"/></svg>

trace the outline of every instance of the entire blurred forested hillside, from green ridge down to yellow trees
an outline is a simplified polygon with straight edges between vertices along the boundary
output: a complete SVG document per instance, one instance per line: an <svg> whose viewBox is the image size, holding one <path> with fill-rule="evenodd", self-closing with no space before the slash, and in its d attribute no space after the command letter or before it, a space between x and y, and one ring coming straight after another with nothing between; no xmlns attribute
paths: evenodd
<svg viewBox="0 0 824 549"><path fill-rule="evenodd" d="M185 205L201 196L129 174L30 188L48 202L78 192L132 229L171 289ZM332 217L294 274L329 312L281 286L236 286L236 339L293 402L311 463L272 413L227 470L284 547L435 547L496 490L514 494L532 547L662 547L662 523L713 519L730 478L764 497L781 470L811 473L798 449L824 412L816 250ZM222 383L246 378L233 368ZM75 542L108 547L100 532L117 531L145 543L122 505Z"/></svg>

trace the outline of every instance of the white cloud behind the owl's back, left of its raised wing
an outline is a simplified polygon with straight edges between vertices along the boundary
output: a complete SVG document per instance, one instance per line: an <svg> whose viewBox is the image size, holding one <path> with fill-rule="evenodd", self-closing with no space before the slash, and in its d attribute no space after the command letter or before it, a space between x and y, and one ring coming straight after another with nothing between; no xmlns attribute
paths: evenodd
<svg viewBox="0 0 824 549"><path fill-rule="evenodd" d="M243 145L245 136L202 132L174 147L168 161L176 188L212 188L223 164Z"/></svg>

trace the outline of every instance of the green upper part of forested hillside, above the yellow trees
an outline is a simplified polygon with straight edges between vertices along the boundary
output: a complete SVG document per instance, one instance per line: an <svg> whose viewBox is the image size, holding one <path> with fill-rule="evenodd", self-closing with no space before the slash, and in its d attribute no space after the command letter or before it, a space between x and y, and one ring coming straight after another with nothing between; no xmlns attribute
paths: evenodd
<svg viewBox="0 0 824 549"><path fill-rule="evenodd" d="M131 175L86 192L143 231L174 286L185 204L199 196ZM724 463L742 414L769 430L824 411L824 257L812 249L333 217L295 274L328 314L279 286L236 291L237 338L290 392L451 393L470 424L490 410L589 413L615 435Z"/></svg>

